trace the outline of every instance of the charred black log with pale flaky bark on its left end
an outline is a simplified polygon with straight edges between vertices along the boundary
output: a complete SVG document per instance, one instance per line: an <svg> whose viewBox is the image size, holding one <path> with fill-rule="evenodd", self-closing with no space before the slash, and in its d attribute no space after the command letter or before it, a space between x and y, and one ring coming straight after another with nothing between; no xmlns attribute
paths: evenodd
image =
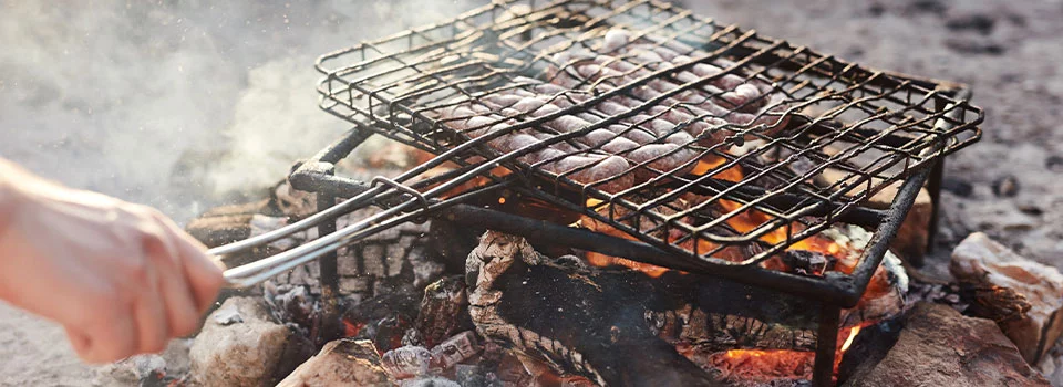
<svg viewBox="0 0 1063 387"><path fill-rule="evenodd" d="M549 262L523 238L487 232L466 263L476 331L603 386L715 385L644 323L647 304L667 302L649 283L577 262Z"/></svg>

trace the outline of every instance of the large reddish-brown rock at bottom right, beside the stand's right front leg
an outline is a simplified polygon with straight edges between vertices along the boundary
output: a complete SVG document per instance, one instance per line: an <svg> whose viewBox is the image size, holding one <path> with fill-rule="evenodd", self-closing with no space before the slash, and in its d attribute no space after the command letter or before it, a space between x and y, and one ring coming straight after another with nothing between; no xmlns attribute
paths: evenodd
<svg viewBox="0 0 1063 387"><path fill-rule="evenodd" d="M919 303L897 343L845 386L1049 386L993 322L945 305Z"/></svg>

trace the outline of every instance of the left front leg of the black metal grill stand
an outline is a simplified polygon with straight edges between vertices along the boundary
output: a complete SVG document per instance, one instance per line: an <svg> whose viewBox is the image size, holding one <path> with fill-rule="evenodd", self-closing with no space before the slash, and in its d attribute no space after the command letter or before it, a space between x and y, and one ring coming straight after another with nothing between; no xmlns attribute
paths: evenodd
<svg viewBox="0 0 1063 387"><path fill-rule="evenodd" d="M336 205L336 197L327 194L318 194L318 211L322 211ZM336 232L336 219L329 219L318 224L318 236L327 236ZM331 342L340 337L340 275L337 273L336 251L322 255L318 259L318 268L321 269L321 325L318 330L318 345Z"/></svg>

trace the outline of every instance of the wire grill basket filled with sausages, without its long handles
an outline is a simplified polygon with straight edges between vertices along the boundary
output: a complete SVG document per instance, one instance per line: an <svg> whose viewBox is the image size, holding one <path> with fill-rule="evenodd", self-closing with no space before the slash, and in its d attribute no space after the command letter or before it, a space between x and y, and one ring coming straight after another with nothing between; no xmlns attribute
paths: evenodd
<svg viewBox="0 0 1063 387"><path fill-rule="evenodd" d="M933 82L648 0L495 2L318 69L321 106L337 116L436 154L464 144L516 171L528 195L724 265L760 263L836 221L879 223L867 199L976 142L982 119ZM739 85L757 93L735 98ZM505 105L514 95L557 109ZM571 117L585 124L565 127ZM605 149L632 132L660 153ZM519 134L536 142L505 145ZM602 177L610 156L627 167ZM760 248L730 253L749 244Z"/></svg>

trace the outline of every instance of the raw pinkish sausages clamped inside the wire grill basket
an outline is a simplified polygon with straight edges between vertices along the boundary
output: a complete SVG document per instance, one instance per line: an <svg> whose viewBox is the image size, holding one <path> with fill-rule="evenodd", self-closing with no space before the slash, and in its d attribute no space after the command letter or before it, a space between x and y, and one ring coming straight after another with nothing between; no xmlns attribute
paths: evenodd
<svg viewBox="0 0 1063 387"><path fill-rule="evenodd" d="M777 111L780 105L778 97L770 95L772 86L761 79L746 80L734 74L718 76L699 90L675 93L653 106L640 105L681 87L680 84L653 80L632 88L634 97L617 95L588 102L592 94L586 91L588 81L594 81L589 86L591 92L608 92L650 74L651 69L660 65L691 61L680 51L661 45L612 46L628 40L627 31L610 31L606 44L598 51L612 55L575 49L561 52L555 55L555 61L568 64L549 71L550 83L516 77L517 87L493 91L476 98L456 98L437 109L438 118L472 138L492 136L487 145L500 153L537 146L518 159L608 192L619 192L658 176L690 171L701 156L693 146L718 144L734 134L733 127L762 125L770 133L784 125L780 116L765 114L767 109ZM698 63L690 71L677 72L674 77L696 82L721 72L718 66ZM586 108L558 115L540 125L513 128L576 104L585 104ZM623 118L602 124L618 115ZM590 129L591 126L597 128ZM570 135L577 130L578 135ZM568 139L558 138L566 134Z"/></svg>

